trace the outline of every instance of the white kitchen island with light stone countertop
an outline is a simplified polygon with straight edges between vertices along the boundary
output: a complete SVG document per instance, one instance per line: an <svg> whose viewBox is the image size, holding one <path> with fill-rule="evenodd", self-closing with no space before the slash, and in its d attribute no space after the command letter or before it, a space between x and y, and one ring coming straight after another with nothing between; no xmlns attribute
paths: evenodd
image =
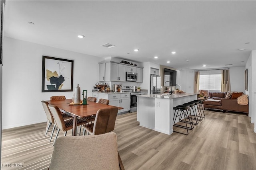
<svg viewBox="0 0 256 170"><path fill-rule="evenodd" d="M148 94L138 97L137 121L140 126L172 134L172 107L197 100L197 94Z"/></svg>

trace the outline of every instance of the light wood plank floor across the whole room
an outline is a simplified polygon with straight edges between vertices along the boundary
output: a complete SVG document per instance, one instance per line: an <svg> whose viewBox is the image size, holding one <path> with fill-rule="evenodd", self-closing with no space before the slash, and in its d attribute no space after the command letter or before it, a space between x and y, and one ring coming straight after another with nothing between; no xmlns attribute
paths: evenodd
<svg viewBox="0 0 256 170"><path fill-rule="evenodd" d="M140 127L136 112L118 115L114 132L124 167L127 170L256 170L256 133L250 117L216 111L205 111L205 114L206 118L189 135L165 135ZM53 143L48 142L50 133L44 137L45 127L46 123L38 123L3 130L1 165L22 163L20 169L47 169Z"/></svg>

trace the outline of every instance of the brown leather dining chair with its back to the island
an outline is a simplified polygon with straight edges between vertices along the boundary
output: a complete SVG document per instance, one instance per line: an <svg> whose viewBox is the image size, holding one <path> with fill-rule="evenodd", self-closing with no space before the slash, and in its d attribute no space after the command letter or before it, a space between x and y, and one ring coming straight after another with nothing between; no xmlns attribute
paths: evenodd
<svg viewBox="0 0 256 170"><path fill-rule="evenodd" d="M90 135L99 135L113 131L117 112L118 107L99 109L96 113L94 123L83 125L83 135L85 135L85 131Z"/></svg>

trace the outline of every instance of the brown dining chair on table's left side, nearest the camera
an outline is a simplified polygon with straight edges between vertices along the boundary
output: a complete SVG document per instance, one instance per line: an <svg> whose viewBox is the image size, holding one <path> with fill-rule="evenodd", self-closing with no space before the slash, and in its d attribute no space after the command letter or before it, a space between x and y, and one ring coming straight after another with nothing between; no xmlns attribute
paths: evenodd
<svg viewBox="0 0 256 170"><path fill-rule="evenodd" d="M54 139L54 143L55 143L55 141L58 137L58 134L60 132L60 129L65 132L64 136L66 136L68 130L73 129L73 119L64 121L59 107L54 106L52 104L49 104L48 107L52 113L52 117L54 118L55 125L58 127L58 131L57 131L56 137ZM77 119L77 126L84 125L84 124L86 124L85 121L82 121L81 119ZM53 145L54 145L54 143L53 143Z"/></svg>

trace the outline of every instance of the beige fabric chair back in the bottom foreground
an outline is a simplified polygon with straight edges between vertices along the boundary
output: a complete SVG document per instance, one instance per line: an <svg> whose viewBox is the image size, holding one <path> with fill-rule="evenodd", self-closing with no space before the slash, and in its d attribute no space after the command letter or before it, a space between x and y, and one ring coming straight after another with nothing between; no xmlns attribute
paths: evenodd
<svg viewBox="0 0 256 170"><path fill-rule="evenodd" d="M124 170L118 154L116 133L59 137L54 145L50 170Z"/></svg>

